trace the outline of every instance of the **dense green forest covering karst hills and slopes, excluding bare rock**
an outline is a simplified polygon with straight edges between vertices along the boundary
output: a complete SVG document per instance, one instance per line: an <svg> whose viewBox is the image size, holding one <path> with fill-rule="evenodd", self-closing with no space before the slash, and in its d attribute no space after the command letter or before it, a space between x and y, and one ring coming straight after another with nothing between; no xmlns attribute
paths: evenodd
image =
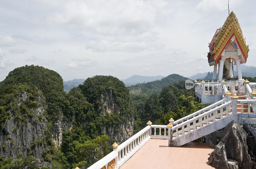
<svg viewBox="0 0 256 169"><path fill-rule="evenodd" d="M28 123L40 121L46 123L47 129L43 130L42 139L33 138L27 149L28 157L22 152L16 159L0 156L0 166L38 168L34 148L41 146L41 162L49 162L53 168L87 167L111 151L113 142L110 140L117 141L104 135L108 134L108 129L122 135L120 125L135 118L133 128L136 133L146 126L148 120L166 125L171 117L177 120L203 108L203 104L195 101L194 89L185 89L186 79L171 74L160 81L130 87L130 95L128 88L117 78L94 76L65 93L57 72L34 65L16 68L0 82L0 129L4 133L4 123L11 115L17 126L26 128ZM22 100L23 94L27 95L26 101ZM118 105L111 113L106 112L102 103L107 99ZM34 113L37 107L44 108L42 114ZM31 121L32 117L34 121ZM68 130L62 131L62 144L56 147L52 133L58 128L59 121ZM19 129L15 127L13 131L16 130ZM9 139L7 135L6 139Z"/></svg>

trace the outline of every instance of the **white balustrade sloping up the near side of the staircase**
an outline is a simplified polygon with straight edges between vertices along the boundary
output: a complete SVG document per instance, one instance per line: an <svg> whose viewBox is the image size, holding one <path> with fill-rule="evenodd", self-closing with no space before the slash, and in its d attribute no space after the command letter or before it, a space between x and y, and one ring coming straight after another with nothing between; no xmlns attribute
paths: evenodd
<svg viewBox="0 0 256 169"><path fill-rule="evenodd" d="M195 116L183 123L173 126L172 127L172 131L173 131L172 140L176 139L180 136L183 136L185 134L188 134L190 132L193 132L193 131L199 129L200 127L204 127L205 125L215 122L218 119L228 116L229 115L228 107L233 102L234 102L233 100L228 101L216 108L213 108L207 112L204 112L203 114L200 114L200 115ZM235 106L233 106L233 107L235 107Z"/></svg>

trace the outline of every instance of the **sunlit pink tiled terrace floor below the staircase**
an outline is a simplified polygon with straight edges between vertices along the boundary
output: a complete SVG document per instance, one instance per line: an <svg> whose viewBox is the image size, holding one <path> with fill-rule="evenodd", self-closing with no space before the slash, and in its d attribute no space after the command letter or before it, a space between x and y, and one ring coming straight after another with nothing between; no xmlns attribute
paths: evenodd
<svg viewBox="0 0 256 169"><path fill-rule="evenodd" d="M212 168L207 165L213 149L205 143L188 143L181 147L168 147L168 140L150 139L120 169L149 168Z"/></svg>

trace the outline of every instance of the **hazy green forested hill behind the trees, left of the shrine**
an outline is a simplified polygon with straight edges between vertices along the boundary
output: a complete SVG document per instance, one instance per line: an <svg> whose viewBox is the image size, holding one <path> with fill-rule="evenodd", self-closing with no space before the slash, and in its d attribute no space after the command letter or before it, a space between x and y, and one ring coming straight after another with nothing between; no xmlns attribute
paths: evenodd
<svg viewBox="0 0 256 169"><path fill-rule="evenodd" d="M128 89L132 94L146 94L150 96L154 92L160 93L162 88L164 88L165 86L176 83L180 80L187 80L187 79L188 78L183 77L179 74L170 74L161 80L137 84L137 85L128 87Z"/></svg>

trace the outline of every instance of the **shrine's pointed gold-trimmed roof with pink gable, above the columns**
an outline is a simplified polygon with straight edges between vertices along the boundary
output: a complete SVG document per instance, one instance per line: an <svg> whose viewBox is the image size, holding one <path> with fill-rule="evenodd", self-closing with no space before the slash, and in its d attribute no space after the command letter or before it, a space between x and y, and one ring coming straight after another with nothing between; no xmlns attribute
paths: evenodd
<svg viewBox="0 0 256 169"><path fill-rule="evenodd" d="M242 29L233 11L224 25L216 30L211 43L209 43L209 49L207 57L210 66L225 59L231 59L235 65L235 60L246 63L249 46L246 45Z"/></svg>

